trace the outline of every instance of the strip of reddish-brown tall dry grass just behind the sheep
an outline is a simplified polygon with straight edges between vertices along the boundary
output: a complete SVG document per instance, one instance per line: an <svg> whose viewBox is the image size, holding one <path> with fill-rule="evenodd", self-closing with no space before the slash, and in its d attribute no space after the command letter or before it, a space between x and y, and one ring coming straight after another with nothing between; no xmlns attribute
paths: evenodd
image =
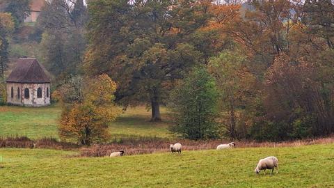
<svg viewBox="0 0 334 188"><path fill-rule="evenodd" d="M216 149L221 143L230 141L212 140L212 141L191 141L178 140L172 141L167 139L127 139L122 143L109 143L106 145L95 145L88 148L80 149L81 157L105 157L119 150L125 150L125 155L141 155L156 152L169 152L170 143L182 143L182 150L212 150ZM235 141L237 148L282 148L291 146L307 146L323 143L334 143L334 136L321 139L308 139L301 141L289 141L281 143L273 142L256 142L256 141Z"/></svg>

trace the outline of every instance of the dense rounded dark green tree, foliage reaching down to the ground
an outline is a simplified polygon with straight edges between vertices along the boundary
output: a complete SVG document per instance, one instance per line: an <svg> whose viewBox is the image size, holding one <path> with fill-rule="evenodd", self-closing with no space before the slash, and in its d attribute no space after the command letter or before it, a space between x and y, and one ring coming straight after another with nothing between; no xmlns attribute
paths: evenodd
<svg viewBox="0 0 334 188"><path fill-rule="evenodd" d="M170 102L175 117L172 132L185 139L210 139L217 136L218 92L205 68L195 68L181 81Z"/></svg>

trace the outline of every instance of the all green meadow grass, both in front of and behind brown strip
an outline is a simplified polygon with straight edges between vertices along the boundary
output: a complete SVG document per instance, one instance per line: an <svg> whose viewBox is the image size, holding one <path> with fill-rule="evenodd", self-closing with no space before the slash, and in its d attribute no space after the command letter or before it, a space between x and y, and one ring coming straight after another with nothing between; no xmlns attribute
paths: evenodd
<svg viewBox="0 0 334 188"><path fill-rule="evenodd" d="M150 123L144 107L128 109L110 125L113 136L168 133ZM58 138L61 109L0 107L0 136ZM0 148L0 187L334 187L334 144L285 148L166 152L124 157L76 157L78 150ZM256 175L260 158L274 155L279 173Z"/></svg>

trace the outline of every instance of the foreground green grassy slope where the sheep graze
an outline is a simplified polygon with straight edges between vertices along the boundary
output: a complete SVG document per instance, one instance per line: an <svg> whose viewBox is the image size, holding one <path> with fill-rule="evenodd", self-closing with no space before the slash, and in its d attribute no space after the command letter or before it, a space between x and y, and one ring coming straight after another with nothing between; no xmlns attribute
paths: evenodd
<svg viewBox="0 0 334 188"><path fill-rule="evenodd" d="M237 148L120 158L67 158L71 152L0 149L0 187L333 187L334 145ZM255 175L258 159L280 172ZM0 157L1 159L1 157Z"/></svg>

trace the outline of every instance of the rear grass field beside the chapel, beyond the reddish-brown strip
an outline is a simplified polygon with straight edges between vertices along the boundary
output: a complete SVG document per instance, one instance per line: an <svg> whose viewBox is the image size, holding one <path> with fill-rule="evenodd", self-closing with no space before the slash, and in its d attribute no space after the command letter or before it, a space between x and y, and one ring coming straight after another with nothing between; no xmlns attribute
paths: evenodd
<svg viewBox="0 0 334 188"><path fill-rule="evenodd" d="M58 138L58 120L61 108L56 106L0 107L0 136L28 136L31 139L42 137ZM157 136L170 137L168 132L168 111L161 109L164 122L151 123L150 111L145 107L129 108L110 125L113 136Z"/></svg>

